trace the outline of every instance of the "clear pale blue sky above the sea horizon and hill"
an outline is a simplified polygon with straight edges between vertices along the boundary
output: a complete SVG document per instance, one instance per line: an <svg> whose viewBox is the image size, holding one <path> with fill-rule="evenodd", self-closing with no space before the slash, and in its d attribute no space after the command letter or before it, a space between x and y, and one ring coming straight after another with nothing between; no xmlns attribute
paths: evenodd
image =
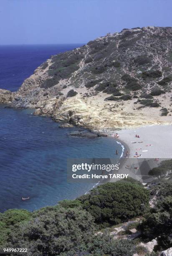
<svg viewBox="0 0 172 256"><path fill-rule="evenodd" d="M86 43L137 26L172 26L172 0L0 0L0 44Z"/></svg>

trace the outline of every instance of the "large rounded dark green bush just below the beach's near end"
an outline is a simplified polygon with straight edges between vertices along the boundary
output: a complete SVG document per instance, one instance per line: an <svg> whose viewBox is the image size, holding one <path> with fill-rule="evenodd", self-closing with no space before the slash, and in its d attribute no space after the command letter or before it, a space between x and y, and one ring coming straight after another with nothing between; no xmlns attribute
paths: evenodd
<svg viewBox="0 0 172 256"><path fill-rule="evenodd" d="M78 200L96 223L117 224L140 215L143 205L148 204L149 192L142 184L119 181L103 184Z"/></svg>

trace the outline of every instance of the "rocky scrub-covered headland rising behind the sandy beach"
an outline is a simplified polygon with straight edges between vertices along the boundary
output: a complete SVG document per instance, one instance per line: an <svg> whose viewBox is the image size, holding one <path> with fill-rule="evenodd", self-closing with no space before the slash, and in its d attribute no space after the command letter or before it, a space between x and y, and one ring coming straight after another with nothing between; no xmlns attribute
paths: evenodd
<svg viewBox="0 0 172 256"><path fill-rule="evenodd" d="M171 27L123 29L52 56L13 94L13 106L102 131L170 123L171 64Z"/></svg>

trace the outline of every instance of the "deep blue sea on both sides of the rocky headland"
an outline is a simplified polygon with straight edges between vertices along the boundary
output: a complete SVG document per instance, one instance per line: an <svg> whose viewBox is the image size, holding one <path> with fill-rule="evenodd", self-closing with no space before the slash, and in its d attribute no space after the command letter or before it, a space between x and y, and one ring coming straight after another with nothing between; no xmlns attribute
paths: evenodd
<svg viewBox="0 0 172 256"><path fill-rule="evenodd" d="M78 46L0 46L0 88L17 90L51 55ZM93 184L67 183L67 158L115 158L115 150L122 151L113 138L70 137L77 128L58 126L51 118L34 116L33 110L0 105L0 212L32 211L74 199Z"/></svg>

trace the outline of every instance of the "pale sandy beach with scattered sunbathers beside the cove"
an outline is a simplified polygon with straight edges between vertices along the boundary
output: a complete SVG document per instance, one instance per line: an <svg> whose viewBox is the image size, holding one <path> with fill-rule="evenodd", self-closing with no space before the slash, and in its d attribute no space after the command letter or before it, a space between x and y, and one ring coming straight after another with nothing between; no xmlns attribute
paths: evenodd
<svg viewBox="0 0 172 256"><path fill-rule="evenodd" d="M124 145L129 156L121 158L120 173L130 173L139 181L149 180L150 169L157 167L160 161L172 159L172 146L170 142L172 125L147 125L118 131L119 138L115 140ZM135 135L140 138L136 138ZM112 134L109 134L112 136ZM136 152L139 157L137 157ZM155 161L155 159L159 161ZM147 177L147 178L146 178ZM153 179L153 178L152 178ZM114 182L111 179L111 182Z"/></svg>

